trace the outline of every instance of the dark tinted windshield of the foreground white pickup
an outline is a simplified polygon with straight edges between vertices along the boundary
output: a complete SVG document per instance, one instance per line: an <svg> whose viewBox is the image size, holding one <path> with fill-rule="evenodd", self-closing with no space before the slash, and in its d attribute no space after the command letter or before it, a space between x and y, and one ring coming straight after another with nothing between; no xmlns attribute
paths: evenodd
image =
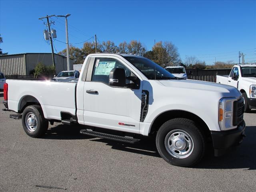
<svg viewBox="0 0 256 192"><path fill-rule="evenodd" d="M124 57L131 64L133 64L138 70L140 70L150 80L160 79L176 79L174 75L166 71L158 64L152 62L147 58L138 57Z"/></svg>

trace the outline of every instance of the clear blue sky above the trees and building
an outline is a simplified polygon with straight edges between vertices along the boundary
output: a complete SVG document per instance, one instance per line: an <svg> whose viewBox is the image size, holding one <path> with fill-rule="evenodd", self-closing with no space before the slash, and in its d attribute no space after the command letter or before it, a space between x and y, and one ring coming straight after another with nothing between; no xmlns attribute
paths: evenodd
<svg viewBox="0 0 256 192"><path fill-rule="evenodd" d="M115 44L139 40L152 50L154 40L175 44L184 62L195 56L216 61L256 61L256 1L11 1L0 0L0 48L9 54L51 52L44 40L46 15L66 15L70 44L94 34ZM66 48L64 18L52 17L54 52ZM90 39L89 41L92 41ZM61 42L60 42L61 41Z"/></svg>

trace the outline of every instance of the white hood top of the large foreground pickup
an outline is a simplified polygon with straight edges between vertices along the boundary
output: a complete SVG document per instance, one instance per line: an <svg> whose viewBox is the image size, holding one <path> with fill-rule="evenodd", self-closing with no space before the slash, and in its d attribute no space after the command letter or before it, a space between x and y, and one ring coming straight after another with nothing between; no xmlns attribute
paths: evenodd
<svg viewBox="0 0 256 192"><path fill-rule="evenodd" d="M160 80L160 82L167 87L176 87L186 90L202 90L208 92L221 93L225 97L235 96L239 97L241 93L233 86L198 81L198 80Z"/></svg>

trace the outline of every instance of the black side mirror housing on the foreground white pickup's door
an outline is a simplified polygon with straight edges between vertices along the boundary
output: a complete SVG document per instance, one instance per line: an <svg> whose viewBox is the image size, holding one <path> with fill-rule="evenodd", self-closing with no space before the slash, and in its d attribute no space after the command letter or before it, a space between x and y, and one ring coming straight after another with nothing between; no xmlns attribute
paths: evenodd
<svg viewBox="0 0 256 192"><path fill-rule="evenodd" d="M125 71L123 68L114 68L109 74L109 85L116 87L125 87Z"/></svg>

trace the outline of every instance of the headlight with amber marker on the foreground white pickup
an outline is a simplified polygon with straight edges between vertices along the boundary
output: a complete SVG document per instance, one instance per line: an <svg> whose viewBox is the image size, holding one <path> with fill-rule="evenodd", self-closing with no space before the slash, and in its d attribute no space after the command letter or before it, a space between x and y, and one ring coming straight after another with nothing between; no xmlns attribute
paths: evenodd
<svg viewBox="0 0 256 192"><path fill-rule="evenodd" d="M236 128L233 126L233 103L237 99L234 97L221 98L219 101L219 125L221 130Z"/></svg>

